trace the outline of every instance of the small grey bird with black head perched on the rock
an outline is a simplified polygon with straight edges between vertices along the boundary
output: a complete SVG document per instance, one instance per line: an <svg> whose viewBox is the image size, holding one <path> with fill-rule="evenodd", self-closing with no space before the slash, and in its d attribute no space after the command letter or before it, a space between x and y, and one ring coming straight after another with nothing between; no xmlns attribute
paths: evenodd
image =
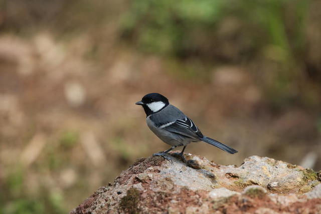
<svg viewBox="0 0 321 214"><path fill-rule="evenodd" d="M181 153L177 153L186 162L184 150L189 143L203 141L216 146L230 154L237 150L202 134L195 123L181 110L169 103L169 100L158 93L149 93L135 103L141 105L146 113L146 123L149 129L165 143L171 145L166 151L154 153L171 160L169 152L178 146L183 146Z"/></svg>

